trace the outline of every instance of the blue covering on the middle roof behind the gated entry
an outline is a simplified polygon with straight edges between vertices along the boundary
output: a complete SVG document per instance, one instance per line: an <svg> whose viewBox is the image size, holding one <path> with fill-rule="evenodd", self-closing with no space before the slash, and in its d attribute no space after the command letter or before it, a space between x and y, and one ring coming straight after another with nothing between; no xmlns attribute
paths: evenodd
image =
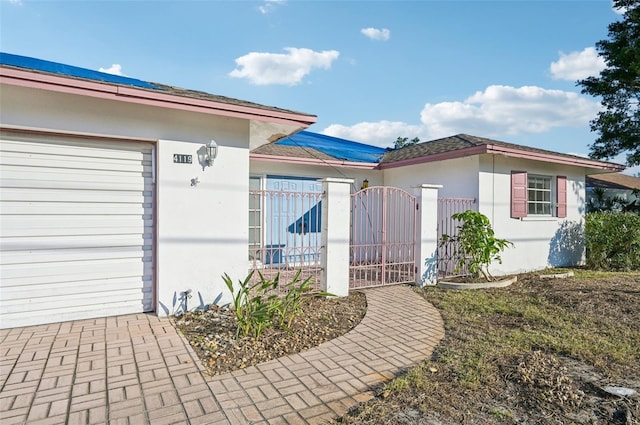
<svg viewBox="0 0 640 425"><path fill-rule="evenodd" d="M350 162L378 163L387 152L386 148L365 145L324 134L300 131L275 143L282 146L313 148L338 160Z"/></svg>

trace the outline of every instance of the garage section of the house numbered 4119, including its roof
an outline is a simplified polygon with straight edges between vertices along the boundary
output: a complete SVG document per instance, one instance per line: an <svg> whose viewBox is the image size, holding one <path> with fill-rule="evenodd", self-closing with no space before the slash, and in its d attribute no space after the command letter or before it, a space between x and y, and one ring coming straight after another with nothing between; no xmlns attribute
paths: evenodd
<svg viewBox="0 0 640 425"><path fill-rule="evenodd" d="M228 299L249 151L316 121L7 53L0 109L3 328Z"/></svg>

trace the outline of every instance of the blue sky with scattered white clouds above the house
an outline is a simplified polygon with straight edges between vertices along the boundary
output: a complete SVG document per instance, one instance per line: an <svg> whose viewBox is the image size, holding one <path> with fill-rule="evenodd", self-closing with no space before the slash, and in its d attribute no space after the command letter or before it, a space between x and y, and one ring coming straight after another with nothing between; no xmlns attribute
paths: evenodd
<svg viewBox="0 0 640 425"><path fill-rule="evenodd" d="M379 146L468 133L586 155L600 105L575 81L620 18L611 0L0 0L0 50L311 113L311 131Z"/></svg>

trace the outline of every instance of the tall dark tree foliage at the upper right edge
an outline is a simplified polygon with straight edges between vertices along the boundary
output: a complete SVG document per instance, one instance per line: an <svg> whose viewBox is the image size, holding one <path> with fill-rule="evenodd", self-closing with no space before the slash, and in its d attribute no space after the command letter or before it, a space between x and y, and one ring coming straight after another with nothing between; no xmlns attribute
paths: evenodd
<svg viewBox="0 0 640 425"><path fill-rule="evenodd" d="M627 165L640 164L640 0L615 0L622 20L609 25L609 39L596 43L606 68L597 77L578 81L582 93L601 97L603 110L591 121L599 137L592 158L627 153Z"/></svg>

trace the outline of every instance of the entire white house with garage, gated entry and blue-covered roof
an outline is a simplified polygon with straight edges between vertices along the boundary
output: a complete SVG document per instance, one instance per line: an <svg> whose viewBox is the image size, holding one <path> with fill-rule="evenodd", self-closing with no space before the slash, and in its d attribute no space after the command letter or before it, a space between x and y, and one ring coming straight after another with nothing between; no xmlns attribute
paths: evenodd
<svg viewBox="0 0 640 425"><path fill-rule="evenodd" d="M585 175L624 169L462 134L388 150L304 131L314 115L7 53L0 108L2 328L224 304L221 276L256 268L338 295L431 282L438 196L515 243L494 274L579 263Z"/></svg>

